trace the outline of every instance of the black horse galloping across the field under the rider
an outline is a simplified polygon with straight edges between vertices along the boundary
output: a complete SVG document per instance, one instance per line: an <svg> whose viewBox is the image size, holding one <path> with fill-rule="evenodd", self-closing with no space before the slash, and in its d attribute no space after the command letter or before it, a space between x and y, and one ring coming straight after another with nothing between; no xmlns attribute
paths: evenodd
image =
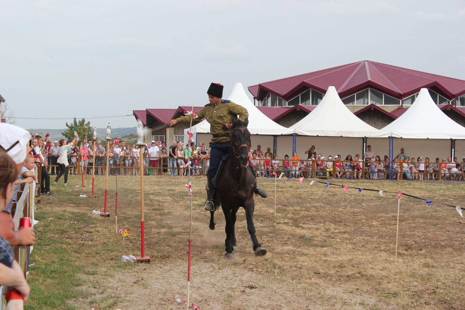
<svg viewBox="0 0 465 310"><path fill-rule="evenodd" d="M252 239L252 247L256 256L266 255L267 250L262 248L255 236L255 226L253 225L253 210L255 202L253 193L256 184L249 165L250 132L247 129L249 121L238 120L233 115L233 128L231 129L231 150L230 158L225 163L222 174L217 183L217 198L221 202L221 209L226 220L226 259L233 259L233 250L237 251L236 236L234 235L234 225L236 223L236 213L239 207L246 210L247 229ZM210 211L210 229L215 229L213 221L214 211Z"/></svg>

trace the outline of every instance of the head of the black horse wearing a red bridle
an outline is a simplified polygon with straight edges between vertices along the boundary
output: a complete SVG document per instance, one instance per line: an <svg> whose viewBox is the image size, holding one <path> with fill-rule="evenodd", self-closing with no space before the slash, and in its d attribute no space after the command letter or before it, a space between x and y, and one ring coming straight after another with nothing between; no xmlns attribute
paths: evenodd
<svg viewBox="0 0 465 310"><path fill-rule="evenodd" d="M234 155L239 159L240 165L249 165L250 132L247 129L249 120L240 121L233 115L233 128L231 133L231 147Z"/></svg>

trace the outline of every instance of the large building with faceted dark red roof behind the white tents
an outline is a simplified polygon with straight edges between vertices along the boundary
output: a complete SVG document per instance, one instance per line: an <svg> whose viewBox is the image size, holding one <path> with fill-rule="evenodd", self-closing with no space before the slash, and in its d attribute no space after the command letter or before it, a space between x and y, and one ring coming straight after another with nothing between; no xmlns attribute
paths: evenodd
<svg viewBox="0 0 465 310"><path fill-rule="evenodd" d="M329 86L336 87L349 110L378 129L405 112L421 88L428 88L441 110L465 125L465 81L374 61L358 61L248 89L263 113L290 127L319 104Z"/></svg>

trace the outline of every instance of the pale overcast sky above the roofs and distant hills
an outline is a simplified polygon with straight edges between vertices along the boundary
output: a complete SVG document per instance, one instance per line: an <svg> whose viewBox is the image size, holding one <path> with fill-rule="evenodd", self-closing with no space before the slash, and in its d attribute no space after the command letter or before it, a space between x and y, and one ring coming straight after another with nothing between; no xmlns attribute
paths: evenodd
<svg viewBox="0 0 465 310"><path fill-rule="evenodd" d="M226 98L235 82L361 60L465 80L463 0L1 0L0 12L0 94L18 117L203 106L210 82L225 85ZM136 124L91 124L108 121Z"/></svg>

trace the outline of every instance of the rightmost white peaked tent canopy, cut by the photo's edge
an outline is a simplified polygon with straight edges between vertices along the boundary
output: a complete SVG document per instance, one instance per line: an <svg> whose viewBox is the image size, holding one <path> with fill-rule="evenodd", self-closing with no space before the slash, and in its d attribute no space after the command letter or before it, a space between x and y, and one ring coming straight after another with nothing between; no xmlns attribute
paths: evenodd
<svg viewBox="0 0 465 310"><path fill-rule="evenodd" d="M427 88L421 88L412 107L381 130L410 139L465 139L465 128L438 108Z"/></svg>

